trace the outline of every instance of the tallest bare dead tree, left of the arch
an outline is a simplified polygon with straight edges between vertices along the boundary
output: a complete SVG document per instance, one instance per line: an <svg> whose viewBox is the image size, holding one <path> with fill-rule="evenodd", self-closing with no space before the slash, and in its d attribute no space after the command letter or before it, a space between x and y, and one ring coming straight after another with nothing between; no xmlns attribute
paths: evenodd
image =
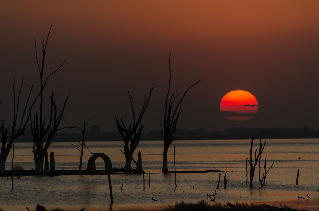
<svg viewBox="0 0 319 211"><path fill-rule="evenodd" d="M35 46L35 55L36 55L36 61L37 61L37 67L40 74L40 107L38 111L35 111L35 114L33 114L33 117L31 115L31 108L29 112L30 116L30 129L33 136L33 158L35 163L35 174L39 174L43 172L43 160L44 161L44 170L49 171L49 162L48 162L48 148L52 144L52 139L56 135L56 132L67 127L59 127L60 123L63 119L64 111L66 103L70 97L70 93L68 94L67 98L64 101L63 108L58 112L57 106L56 106L56 99L54 98L53 93L50 95L50 118L46 122L46 119L43 114L43 93L44 88L48 85L49 78L55 74L64 64L65 60L61 63L61 65L53 70L46 78L43 78L44 76L44 63L46 59L47 54L47 46L48 46L48 39L50 35L52 25L49 29L48 36L46 41L44 42L44 39L42 39L42 59L41 63L39 63L38 59L38 52L37 52L37 45L36 45L36 38L34 38L34 46ZM47 123L47 125L45 125Z"/></svg>

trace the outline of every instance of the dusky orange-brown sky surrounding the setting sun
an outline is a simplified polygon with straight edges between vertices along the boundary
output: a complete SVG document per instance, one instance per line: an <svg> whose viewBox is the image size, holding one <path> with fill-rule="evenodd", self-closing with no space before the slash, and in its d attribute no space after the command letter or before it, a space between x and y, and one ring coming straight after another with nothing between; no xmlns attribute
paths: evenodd
<svg viewBox="0 0 319 211"><path fill-rule="evenodd" d="M172 87L183 101L178 128L319 128L319 1L1 1L0 119L12 118L12 81L24 93L39 89L33 38L46 37L46 73L61 106L70 92L63 126L90 119L116 131L115 115L132 120L154 84L143 118L145 131L164 118L171 57ZM40 48L38 48L40 50ZM246 90L258 113L244 122L223 117L219 104Z"/></svg>

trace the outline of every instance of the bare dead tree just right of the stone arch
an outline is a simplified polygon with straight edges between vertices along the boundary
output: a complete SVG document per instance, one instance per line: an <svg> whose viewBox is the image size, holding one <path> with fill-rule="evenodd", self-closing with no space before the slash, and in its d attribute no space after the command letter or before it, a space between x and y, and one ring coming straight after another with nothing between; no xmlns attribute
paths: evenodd
<svg viewBox="0 0 319 211"><path fill-rule="evenodd" d="M131 108L132 108L132 113L133 113L133 126L128 125L128 127L126 127L123 119L121 118L121 122L120 122L120 120L118 120L115 116L115 120L116 120L115 122L116 122L117 129L120 132L120 134L123 138L123 141L124 141L124 155L125 155L124 171L127 173L131 172L131 169L132 169L133 154L134 154L135 149L138 146L138 143L139 143L140 138L141 138L141 133L142 133L142 130L144 127L144 125L142 125L142 118L143 118L143 115L146 111L148 101L151 98L153 87L154 86L152 86L152 89L148 95L148 98L146 99L146 96L144 98L144 104L143 104L143 107L141 109L141 112L138 115L137 121L135 120L133 97L130 96L130 92L129 92L130 103L131 103Z"/></svg>

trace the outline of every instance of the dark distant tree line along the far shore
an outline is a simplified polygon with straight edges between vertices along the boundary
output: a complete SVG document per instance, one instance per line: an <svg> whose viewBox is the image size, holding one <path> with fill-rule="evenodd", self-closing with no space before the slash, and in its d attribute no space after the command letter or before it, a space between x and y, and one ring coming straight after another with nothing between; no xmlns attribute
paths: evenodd
<svg viewBox="0 0 319 211"><path fill-rule="evenodd" d="M120 141L121 135L118 132L101 132L99 126L93 125L89 128L87 141ZM217 140L217 139L247 139L249 136L263 135L265 138L319 138L319 129L313 127L241 127L227 128L224 131L207 131L205 129L176 129L176 140ZM70 141L80 136L78 132L61 131L53 138L54 141ZM141 140L163 140L160 130L145 132ZM31 142L32 136L29 130L25 135L19 136L17 142Z"/></svg>

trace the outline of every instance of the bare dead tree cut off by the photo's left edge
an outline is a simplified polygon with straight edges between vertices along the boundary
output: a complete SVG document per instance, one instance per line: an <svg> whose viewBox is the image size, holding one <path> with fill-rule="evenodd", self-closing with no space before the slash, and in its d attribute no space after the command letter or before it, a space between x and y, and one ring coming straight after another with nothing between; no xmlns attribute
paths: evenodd
<svg viewBox="0 0 319 211"><path fill-rule="evenodd" d="M0 133L2 138L1 150L0 150L0 174L4 173L5 171L5 162L10 153L12 143L14 142L16 138L24 134L29 124L29 115L27 113L27 110L29 108L28 103L29 103L33 86L30 89L30 92L29 92L28 98L26 99L26 103L22 110L22 113L20 113L21 112L20 111L20 96L22 93L23 81L24 79L21 82L19 95L18 95L18 98L16 99L15 79L13 80L13 119L10 125L5 125L5 121L3 121L0 126ZM36 99L37 98L35 98L35 100ZM0 104L1 104L1 101L0 101ZM34 105L34 102L30 106L30 108L32 108L33 105Z"/></svg>

